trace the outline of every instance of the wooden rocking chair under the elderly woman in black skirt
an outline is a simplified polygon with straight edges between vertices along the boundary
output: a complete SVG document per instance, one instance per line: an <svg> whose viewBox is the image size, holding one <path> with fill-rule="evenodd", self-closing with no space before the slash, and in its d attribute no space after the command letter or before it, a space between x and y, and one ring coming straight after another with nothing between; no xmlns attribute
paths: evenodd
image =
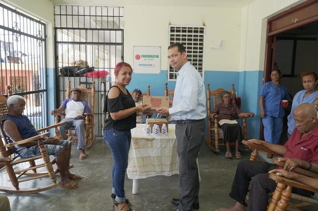
<svg viewBox="0 0 318 211"><path fill-rule="evenodd" d="M230 91L231 93L231 102L235 104L235 88L234 83L231 84L232 89ZM219 145L225 145L224 143L220 143L219 140L223 139L223 131L221 131L221 128L218 127L218 120L217 118L214 118L214 122L209 118L211 111L213 110L211 108L211 96L212 96L212 103L213 108L220 104L222 102L221 95L225 91L223 88L218 88L214 91L210 90L210 84L207 84L207 113L208 113L208 138L206 139L208 147L213 152L220 152ZM243 139L247 140L247 126L246 126L246 118L249 116L242 116L238 119L243 119L243 125L242 125L242 132L243 132ZM212 135L214 134L214 139L212 138ZM248 150L247 148L241 149L241 150Z"/></svg>

